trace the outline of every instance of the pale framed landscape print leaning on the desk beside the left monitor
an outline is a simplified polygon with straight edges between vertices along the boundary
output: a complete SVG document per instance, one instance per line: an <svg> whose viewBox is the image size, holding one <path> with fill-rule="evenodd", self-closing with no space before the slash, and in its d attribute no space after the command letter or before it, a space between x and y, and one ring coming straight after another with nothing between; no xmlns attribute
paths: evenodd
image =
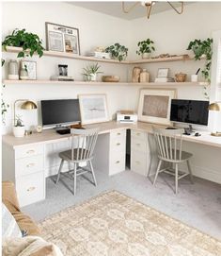
<svg viewBox="0 0 221 256"><path fill-rule="evenodd" d="M83 125L109 121L106 94L79 94Z"/></svg>

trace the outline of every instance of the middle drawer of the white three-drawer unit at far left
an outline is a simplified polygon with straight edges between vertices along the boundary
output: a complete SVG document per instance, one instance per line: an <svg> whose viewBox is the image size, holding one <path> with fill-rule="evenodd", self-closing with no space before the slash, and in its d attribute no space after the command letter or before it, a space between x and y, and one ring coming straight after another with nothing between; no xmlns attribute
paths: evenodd
<svg viewBox="0 0 221 256"><path fill-rule="evenodd" d="M15 176L23 176L43 171L43 155L18 159L15 162Z"/></svg>

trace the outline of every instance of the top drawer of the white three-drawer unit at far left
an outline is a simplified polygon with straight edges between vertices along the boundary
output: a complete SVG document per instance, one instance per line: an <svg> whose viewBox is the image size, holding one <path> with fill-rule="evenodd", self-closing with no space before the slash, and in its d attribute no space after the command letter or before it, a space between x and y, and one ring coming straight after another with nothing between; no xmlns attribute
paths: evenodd
<svg viewBox="0 0 221 256"><path fill-rule="evenodd" d="M43 145L25 145L15 149L15 159L43 154Z"/></svg>

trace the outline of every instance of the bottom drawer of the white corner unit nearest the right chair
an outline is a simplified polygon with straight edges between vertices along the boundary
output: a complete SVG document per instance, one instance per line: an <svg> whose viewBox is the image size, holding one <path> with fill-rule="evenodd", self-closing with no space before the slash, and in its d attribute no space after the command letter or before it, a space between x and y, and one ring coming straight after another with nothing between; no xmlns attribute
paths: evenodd
<svg viewBox="0 0 221 256"><path fill-rule="evenodd" d="M147 175L147 156L144 153L131 152L131 170L140 174Z"/></svg>

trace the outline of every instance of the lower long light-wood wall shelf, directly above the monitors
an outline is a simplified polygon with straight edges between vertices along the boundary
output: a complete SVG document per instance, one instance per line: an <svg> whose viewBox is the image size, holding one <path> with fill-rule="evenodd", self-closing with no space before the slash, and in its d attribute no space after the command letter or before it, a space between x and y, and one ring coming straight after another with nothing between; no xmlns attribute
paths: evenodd
<svg viewBox="0 0 221 256"><path fill-rule="evenodd" d="M52 80L4 80L4 84L69 84L69 85L113 85L113 86L205 86L205 82L165 82L165 83L133 83L133 82L87 82L87 81L52 81Z"/></svg>

